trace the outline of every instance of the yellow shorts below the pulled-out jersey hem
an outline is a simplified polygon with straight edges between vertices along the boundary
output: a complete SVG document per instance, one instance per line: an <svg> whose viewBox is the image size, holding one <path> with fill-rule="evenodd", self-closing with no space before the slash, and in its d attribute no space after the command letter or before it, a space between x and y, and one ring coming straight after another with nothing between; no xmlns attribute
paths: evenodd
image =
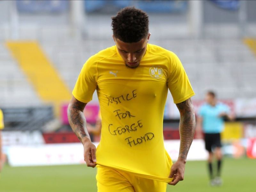
<svg viewBox="0 0 256 192"><path fill-rule="evenodd" d="M165 192L166 182L146 179L129 172L97 165L98 192Z"/></svg>

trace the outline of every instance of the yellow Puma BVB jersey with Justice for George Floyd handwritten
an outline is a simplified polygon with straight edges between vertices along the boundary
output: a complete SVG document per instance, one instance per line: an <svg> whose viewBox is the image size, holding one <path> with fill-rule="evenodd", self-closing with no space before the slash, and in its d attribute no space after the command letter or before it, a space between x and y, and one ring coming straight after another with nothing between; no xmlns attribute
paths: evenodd
<svg viewBox="0 0 256 192"><path fill-rule="evenodd" d="M170 182L171 158L164 149L163 116L168 88L174 103L195 93L179 58L148 44L137 68L125 66L116 46L90 57L73 90L84 103L97 90L102 117L97 164Z"/></svg>

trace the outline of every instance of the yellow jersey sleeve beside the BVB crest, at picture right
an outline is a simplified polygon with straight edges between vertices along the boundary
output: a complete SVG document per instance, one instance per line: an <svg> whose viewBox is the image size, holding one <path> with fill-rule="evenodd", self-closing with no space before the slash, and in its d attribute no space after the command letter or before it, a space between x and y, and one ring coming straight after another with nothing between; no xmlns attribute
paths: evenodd
<svg viewBox="0 0 256 192"><path fill-rule="evenodd" d="M170 52L170 71L167 85L175 104L195 95L180 59L173 52Z"/></svg>

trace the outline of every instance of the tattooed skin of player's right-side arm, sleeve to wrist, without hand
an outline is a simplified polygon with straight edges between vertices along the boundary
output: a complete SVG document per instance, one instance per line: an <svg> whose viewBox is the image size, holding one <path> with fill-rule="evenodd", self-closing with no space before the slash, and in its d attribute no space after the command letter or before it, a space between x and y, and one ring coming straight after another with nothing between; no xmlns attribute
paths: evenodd
<svg viewBox="0 0 256 192"><path fill-rule="evenodd" d="M181 103L176 104L180 111L180 153L179 157L182 159L187 158L188 150L193 141L196 118L194 112L194 106L189 98Z"/></svg>

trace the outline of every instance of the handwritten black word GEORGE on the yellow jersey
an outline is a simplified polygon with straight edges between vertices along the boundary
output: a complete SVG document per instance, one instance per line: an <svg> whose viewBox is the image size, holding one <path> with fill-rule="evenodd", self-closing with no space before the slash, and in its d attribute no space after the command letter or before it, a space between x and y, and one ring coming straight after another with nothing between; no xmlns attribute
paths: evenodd
<svg viewBox="0 0 256 192"><path fill-rule="evenodd" d="M121 135L125 132L132 132L132 131L137 131L137 128L141 128L143 125L140 122L141 120L137 121L137 123L129 125L125 125L124 127L117 127L115 128L113 124L108 125L108 131L111 135Z"/></svg>

